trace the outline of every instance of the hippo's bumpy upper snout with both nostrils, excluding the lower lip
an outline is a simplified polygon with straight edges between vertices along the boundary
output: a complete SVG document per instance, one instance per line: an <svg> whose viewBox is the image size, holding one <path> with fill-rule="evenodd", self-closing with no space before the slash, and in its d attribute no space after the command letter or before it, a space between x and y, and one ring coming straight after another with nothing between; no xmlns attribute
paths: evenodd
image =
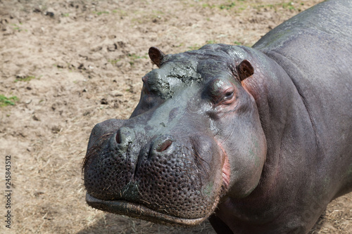
<svg viewBox="0 0 352 234"><path fill-rule="evenodd" d="M196 139L203 138L155 136L121 126L99 149L92 145L87 150L89 162L84 164L84 186L90 197L87 202L92 197L130 202L182 219L207 216L217 202L213 192L217 193L221 187L221 183L208 183L208 170L220 165L212 160L220 150L215 142L196 143ZM207 160L201 160L200 153L208 154L202 155ZM208 204L207 209L204 204ZM103 209L101 204L98 208Z"/></svg>

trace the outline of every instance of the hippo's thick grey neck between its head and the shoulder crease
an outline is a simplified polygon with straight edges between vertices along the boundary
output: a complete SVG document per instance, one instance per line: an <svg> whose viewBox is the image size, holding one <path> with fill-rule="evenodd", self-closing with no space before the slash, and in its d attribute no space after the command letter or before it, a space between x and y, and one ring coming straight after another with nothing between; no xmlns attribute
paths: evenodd
<svg viewBox="0 0 352 234"><path fill-rule="evenodd" d="M289 199L290 195L282 195L279 191L285 190L287 183L283 182L284 179L294 176L289 167L301 167L296 162L307 160L303 158L306 154L301 152L309 151L312 159L308 160L314 160L317 149L311 145L315 145L315 134L308 111L287 72L264 53L253 48L246 48L246 51L249 52L248 59L260 66L255 67L253 77L245 79L242 84L256 100L268 151L260 183L245 200L249 205L263 200L274 203L278 197ZM300 149L294 149L295 145ZM294 150L297 152L292 153ZM240 203L246 203L243 201Z"/></svg>

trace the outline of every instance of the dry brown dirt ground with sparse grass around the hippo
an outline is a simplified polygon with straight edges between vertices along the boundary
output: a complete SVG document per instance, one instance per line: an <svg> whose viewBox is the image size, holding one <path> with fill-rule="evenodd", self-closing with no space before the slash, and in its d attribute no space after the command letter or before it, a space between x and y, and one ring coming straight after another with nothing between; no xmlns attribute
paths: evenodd
<svg viewBox="0 0 352 234"><path fill-rule="evenodd" d="M153 68L150 46L251 46L318 2L0 0L0 188L11 155L11 231L215 233L209 223L164 227L88 207L80 167L89 133L132 113L141 77ZM351 199L329 204L312 233L352 233ZM0 202L7 233L4 196Z"/></svg>

